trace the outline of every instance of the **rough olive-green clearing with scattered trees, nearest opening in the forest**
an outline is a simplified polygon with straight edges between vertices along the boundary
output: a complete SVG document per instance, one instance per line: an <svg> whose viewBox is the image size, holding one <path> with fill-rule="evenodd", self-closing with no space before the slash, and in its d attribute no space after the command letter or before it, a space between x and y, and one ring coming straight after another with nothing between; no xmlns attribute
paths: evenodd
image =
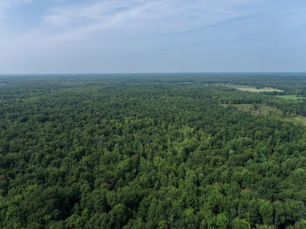
<svg viewBox="0 0 306 229"><path fill-rule="evenodd" d="M250 107L253 108L253 104L233 104L234 107L237 107L238 109L241 109L243 111L250 111ZM252 111L252 113L254 115L263 115L263 116L267 116L269 115L268 111L272 111L272 116L275 118L278 118L280 120L285 120L285 121L289 121L289 122L293 122L293 123L302 123L304 125L306 125L306 118L301 117L301 116L297 116L297 115L291 115L290 117L285 117L282 118L282 111L278 110L278 109L274 109L272 107L268 107L268 106L263 106L263 105L259 105L259 109L261 110L260 114L259 111Z"/></svg>

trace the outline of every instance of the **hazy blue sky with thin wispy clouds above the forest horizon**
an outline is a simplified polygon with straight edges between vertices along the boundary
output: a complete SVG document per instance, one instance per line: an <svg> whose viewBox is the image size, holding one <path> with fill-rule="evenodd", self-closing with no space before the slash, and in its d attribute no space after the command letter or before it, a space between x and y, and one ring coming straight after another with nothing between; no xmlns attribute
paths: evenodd
<svg viewBox="0 0 306 229"><path fill-rule="evenodd" d="M0 0L0 74L306 71L306 0Z"/></svg>

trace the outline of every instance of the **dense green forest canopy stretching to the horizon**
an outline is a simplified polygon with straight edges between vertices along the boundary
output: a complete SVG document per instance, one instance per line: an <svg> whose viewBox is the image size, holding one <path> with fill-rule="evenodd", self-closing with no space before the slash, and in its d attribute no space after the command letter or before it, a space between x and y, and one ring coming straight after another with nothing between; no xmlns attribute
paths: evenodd
<svg viewBox="0 0 306 229"><path fill-rule="evenodd" d="M304 96L305 73L1 75L0 228L305 229Z"/></svg>

